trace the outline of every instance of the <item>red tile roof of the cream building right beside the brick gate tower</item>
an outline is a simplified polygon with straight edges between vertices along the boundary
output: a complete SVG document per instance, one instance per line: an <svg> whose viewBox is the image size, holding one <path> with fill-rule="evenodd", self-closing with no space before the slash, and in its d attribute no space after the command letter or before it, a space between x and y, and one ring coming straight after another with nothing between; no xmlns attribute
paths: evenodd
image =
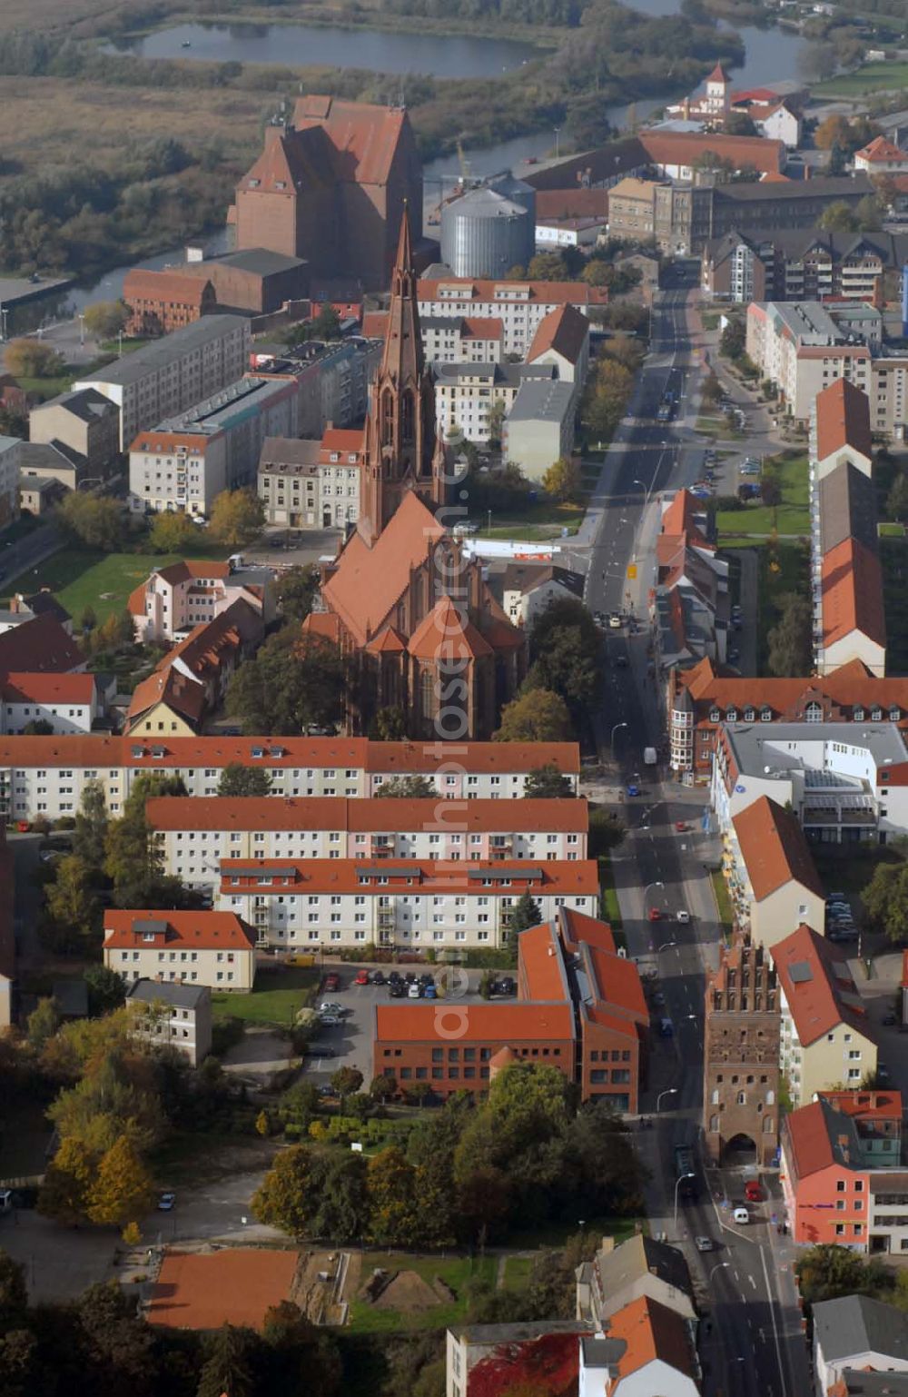
<svg viewBox="0 0 908 1397"><path fill-rule="evenodd" d="M831 942L802 923L771 947L771 956L802 1046L809 1048L841 1023L867 1034L848 963Z"/></svg>

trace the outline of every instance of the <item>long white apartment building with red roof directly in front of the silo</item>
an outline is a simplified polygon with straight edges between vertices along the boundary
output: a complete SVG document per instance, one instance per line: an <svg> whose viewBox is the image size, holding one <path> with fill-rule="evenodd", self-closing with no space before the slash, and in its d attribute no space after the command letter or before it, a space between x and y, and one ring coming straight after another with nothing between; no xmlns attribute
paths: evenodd
<svg viewBox="0 0 908 1397"><path fill-rule="evenodd" d="M419 319L448 316L500 320L504 353L521 358L529 349L542 320L560 306L587 312L608 305L608 292L583 281L489 281L479 277L444 277L416 284Z"/></svg>

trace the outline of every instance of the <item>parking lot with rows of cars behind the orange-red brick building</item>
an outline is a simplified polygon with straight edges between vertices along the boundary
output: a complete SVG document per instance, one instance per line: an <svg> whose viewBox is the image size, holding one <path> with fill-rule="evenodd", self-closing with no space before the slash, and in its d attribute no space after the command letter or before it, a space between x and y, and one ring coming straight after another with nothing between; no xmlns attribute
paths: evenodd
<svg viewBox="0 0 908 1397"><path fill-rule="evenodd" d="M416 965L412 968L407 965L338 965L334 972L338 975L339 989L320 989L316 997L316 1007L323 1003L338 1003L341 1006L341 1014L337 1016L341 1020L339 1024L324 1025L317 1038L310 1044L305 1070L306 1080L314 1081L316 1085L327 1084L338 1067L355 1067L358 1071L362 1071L363 1081L369 1085L373 1077L372 1042L376 1004L393 1004L395 1011L402 1016L413 1004L426 1003L423 999L394 999L387 983L356 985L356 974L362 968L367 968L370 972L380 968L383 974L397 970L401 975L430 972L437 986L439 997L434 1003L439 1006L455 1003L460 1007L461 1004L486 1003L479 993L479 983L483 977L483 971L481 970L468 971L460 965ZM331 974L331 971L327 974ZM493 974L495 978L504 978L510 972L495 971ZM513 996L510 997L513 999ZM499 996L495 996L495 1002L507 1002L507 999L500 1000ZM320 1048L327 1051L320 1052Z"/></svg>

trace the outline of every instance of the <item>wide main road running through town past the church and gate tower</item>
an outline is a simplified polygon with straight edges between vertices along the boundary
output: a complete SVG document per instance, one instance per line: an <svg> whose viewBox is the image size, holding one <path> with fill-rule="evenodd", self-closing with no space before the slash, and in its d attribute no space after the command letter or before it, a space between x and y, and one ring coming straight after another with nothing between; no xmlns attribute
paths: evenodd
<svg viewBox="0 0 908 1397"><path fill-rule="evenodd" d="M701 472L703 446L691 430L701 373L694 312L682 281L654 306L650 353L594 497L585 601L594 612L623 613L622 627L605 631L596 738L612 773L602 793L623 802L629 827L613 859L627 950L658 977L654 1021L665 1016L673 1025L671 1038L652 1034L643 1108L651 1127L637 1136L651 1173L651 1229L683 1246L708 1315L701 1329L704 1390L712 1397L803 1397L812 1384L789 1245L772 1222L778 1204L770 1197L752 1208L747 1228L736 1227L729 1204L742 1199L743 1180L714 1169L701 1176L697 1201L676 1199L673 1150L691 1144L698 1151L704 975L718 963L721 937L708 868L718 851L703 828L703 795L662 782L658 768L644 766L643 753L647 746L664 752L665 739L648 619L659 496ZM666 391L678 414L658 423ZM629 795L630 787L640 793ZM679 911L690 921L679 922ZM696 1236L708 1238L712 1250L698 1252Z"/></svg>

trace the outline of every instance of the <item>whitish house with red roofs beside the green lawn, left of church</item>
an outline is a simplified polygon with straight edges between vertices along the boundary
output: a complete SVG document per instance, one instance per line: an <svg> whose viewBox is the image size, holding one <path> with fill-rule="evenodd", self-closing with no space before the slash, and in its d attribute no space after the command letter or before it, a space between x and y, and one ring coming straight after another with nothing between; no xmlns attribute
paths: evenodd
<svg viewBox="0 0 908 1397"><path fill-rule="evenodd" d="M244 601L267 622L274 615L274 574L233 571L230 563L191 559L156 567L130 595L129 610L141 643L179 640L193 626L208 624L233 602Z"/></svg>

